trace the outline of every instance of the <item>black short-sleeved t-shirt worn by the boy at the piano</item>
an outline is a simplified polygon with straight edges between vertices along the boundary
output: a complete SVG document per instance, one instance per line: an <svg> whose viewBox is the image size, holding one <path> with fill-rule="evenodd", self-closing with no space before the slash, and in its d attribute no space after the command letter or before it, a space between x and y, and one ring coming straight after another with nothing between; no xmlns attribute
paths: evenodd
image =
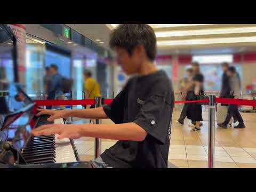
<svg viewBox="0 0 256 192"><path fill-rule="evenodd" d="M134 122L147 131L143 141L117 141L101 158L110 166L167 167L174 93L164 71L131 78L109 105L116 124Z"/></svg>

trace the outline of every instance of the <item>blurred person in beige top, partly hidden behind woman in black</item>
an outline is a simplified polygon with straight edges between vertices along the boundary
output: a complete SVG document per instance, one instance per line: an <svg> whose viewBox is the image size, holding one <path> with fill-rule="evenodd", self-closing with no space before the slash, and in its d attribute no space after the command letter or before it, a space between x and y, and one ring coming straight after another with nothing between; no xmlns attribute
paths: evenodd
<svg viewBox="0 0 256 192"><path fill-rule="evenodd" d="M182 78L181 82L180 82L180 93L181 93L181 99L182 100L187 99L187 90L186 89L187 89L188 84L190 84L191 81L192 81L193 69L188 68L186 70L186 73L187 73L187 77ZM184 119L187 116L187 107L188 107L188 105L187 105L187 103L185 103L183 108L182 108L180 118L178 119L178 122L182 125L184 124Z"/></svg>

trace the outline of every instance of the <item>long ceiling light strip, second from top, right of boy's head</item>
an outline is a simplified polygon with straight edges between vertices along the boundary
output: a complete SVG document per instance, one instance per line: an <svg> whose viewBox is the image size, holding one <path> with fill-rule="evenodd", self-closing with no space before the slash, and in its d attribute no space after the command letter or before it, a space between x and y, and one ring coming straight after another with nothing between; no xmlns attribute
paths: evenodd
<svg viewBox="0 0 256 192"><path fill-rule="evenodd" d="M256 27L236 27L222 29L199 29L183 31L160 31L156 32L156 37L178 37L189 35L218 35L218 34L237 34L237 33L255 33Z"/></svg>

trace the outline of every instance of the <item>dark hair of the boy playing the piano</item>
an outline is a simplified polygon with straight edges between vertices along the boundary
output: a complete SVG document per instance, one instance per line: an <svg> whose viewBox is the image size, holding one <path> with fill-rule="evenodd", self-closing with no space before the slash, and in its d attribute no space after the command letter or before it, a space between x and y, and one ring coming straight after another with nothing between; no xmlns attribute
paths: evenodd
<svg viewBox="0 0 256 192"><path fill-rule="evenodd" d="M156 58L156 35L146 24L121 24L110 35L109 46L111 49L122 47L130 55L137 45L143 45L149 60Z"/></svg>

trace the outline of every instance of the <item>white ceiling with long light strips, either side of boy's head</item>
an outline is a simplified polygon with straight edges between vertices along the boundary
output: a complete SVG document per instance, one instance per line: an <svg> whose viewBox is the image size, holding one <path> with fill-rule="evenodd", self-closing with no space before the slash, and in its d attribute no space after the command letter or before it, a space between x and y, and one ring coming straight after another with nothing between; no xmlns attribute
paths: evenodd
<svg viewBox="0 0 256 192"><path fill-rule="evenodd" d="M118 24L67 25L109 49L109 35ZM256 25L149 25L153 27L157 36L158 54L226 54L256 51ZM100 44L96 39L100 39L104 44Z"/></svg>

